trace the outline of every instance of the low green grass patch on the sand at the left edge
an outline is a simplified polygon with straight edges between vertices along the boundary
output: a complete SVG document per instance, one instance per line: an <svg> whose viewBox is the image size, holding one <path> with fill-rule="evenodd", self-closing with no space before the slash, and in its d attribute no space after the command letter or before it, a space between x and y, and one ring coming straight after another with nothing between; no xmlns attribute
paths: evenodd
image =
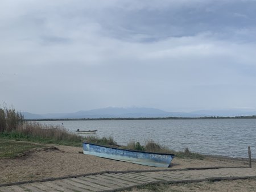
<svg viewBox="0 0 256 192"><path fill-rule="evenodd" d="M19 157L31 149L41 147L43 145L0 139L0 158Z"/></svg>

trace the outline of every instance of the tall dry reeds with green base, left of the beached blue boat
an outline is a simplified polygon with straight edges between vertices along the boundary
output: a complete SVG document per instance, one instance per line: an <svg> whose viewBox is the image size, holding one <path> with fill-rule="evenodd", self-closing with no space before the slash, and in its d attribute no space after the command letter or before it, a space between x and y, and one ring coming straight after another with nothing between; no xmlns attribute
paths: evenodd
<svg viewBox="0 0 256 192"><path fill-rule="evenodd" d="M68 132L61 126L47 126L38 122L26 122L14 108L0 107L0 136L23 139L51 141L52 143L81 143L82 137Z"/></svg>

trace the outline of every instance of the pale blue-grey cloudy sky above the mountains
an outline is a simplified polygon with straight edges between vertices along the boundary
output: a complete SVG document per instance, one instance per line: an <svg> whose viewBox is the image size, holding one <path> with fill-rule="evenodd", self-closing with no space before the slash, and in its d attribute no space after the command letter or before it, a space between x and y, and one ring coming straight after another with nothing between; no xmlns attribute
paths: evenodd
<svg viewBox="0 0 256 192"><path fill-rule="evenodd" d="M0 1L0 105L256 110L255 82L255 0Z"/></svg>

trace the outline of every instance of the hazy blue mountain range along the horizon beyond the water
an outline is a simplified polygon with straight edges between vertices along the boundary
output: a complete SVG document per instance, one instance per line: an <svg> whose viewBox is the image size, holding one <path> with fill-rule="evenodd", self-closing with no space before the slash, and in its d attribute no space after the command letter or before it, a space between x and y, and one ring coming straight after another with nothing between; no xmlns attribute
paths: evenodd
<svg viewBox="0 0 256 192"><path fill-rule="evenodd" d="M244 110L200 110L192 112L168 112L157 108L147 107L107 107L87 111L32 114L22 112L25 119L80 119L80 118L164 118L181 117L196 118L202 116L250 116L256 115L256 111Z"/></svg>

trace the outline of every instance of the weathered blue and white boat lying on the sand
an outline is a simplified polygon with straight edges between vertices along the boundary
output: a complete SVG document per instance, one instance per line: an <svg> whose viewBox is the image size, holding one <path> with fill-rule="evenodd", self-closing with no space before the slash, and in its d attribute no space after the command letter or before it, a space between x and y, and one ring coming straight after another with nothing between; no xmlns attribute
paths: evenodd
<svg viewBox="0 0 256 192"><path fill-rule="evenodd" d="M113 160L132 162L134 164L158 166L168 168L174 154L141 152L113 147L105 147L92 143L82 143L84 154L98 157L110 158Z"/></svg>

